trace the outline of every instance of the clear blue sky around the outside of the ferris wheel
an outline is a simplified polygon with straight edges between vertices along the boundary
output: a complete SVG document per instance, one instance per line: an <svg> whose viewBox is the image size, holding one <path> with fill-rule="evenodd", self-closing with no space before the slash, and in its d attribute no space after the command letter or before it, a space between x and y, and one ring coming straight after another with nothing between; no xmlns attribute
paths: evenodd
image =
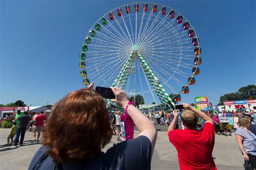
<svg viewBox="0 0 256 170"><path fill-rule="evenodd" d="M90 27L104 13L134 1L0 0L0 103L54 104L84 87L78 67ZM154 2L154 1L150 1ZM199 34L203 64L183 102L256 84L255 1L155 1L182 13Z"/></svg>

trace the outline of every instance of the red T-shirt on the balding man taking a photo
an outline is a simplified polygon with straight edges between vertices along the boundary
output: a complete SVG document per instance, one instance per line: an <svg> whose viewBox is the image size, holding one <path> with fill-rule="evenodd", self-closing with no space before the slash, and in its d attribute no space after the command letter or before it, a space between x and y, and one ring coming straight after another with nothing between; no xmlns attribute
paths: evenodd
<svg viewBox="0 0 256 170"><path fill-rule="evenodd" d="M217 169L212 158L214 127L205 123L201 130L177 129L169 132L176 147L180 169Z"/></svg>

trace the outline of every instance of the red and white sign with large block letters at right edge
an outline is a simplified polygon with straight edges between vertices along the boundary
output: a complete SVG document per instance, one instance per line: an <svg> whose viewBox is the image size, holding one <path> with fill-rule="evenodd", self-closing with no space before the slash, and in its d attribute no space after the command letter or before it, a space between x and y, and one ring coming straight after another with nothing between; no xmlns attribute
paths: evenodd
<svg viewBox="0 0 256 170"><path fill-rule="evenodd" d="M224 105L219 105L219 111L234 112L237 110L245 110L247 112L253 110L256 112L256 99L225 101Z"/></svg>

